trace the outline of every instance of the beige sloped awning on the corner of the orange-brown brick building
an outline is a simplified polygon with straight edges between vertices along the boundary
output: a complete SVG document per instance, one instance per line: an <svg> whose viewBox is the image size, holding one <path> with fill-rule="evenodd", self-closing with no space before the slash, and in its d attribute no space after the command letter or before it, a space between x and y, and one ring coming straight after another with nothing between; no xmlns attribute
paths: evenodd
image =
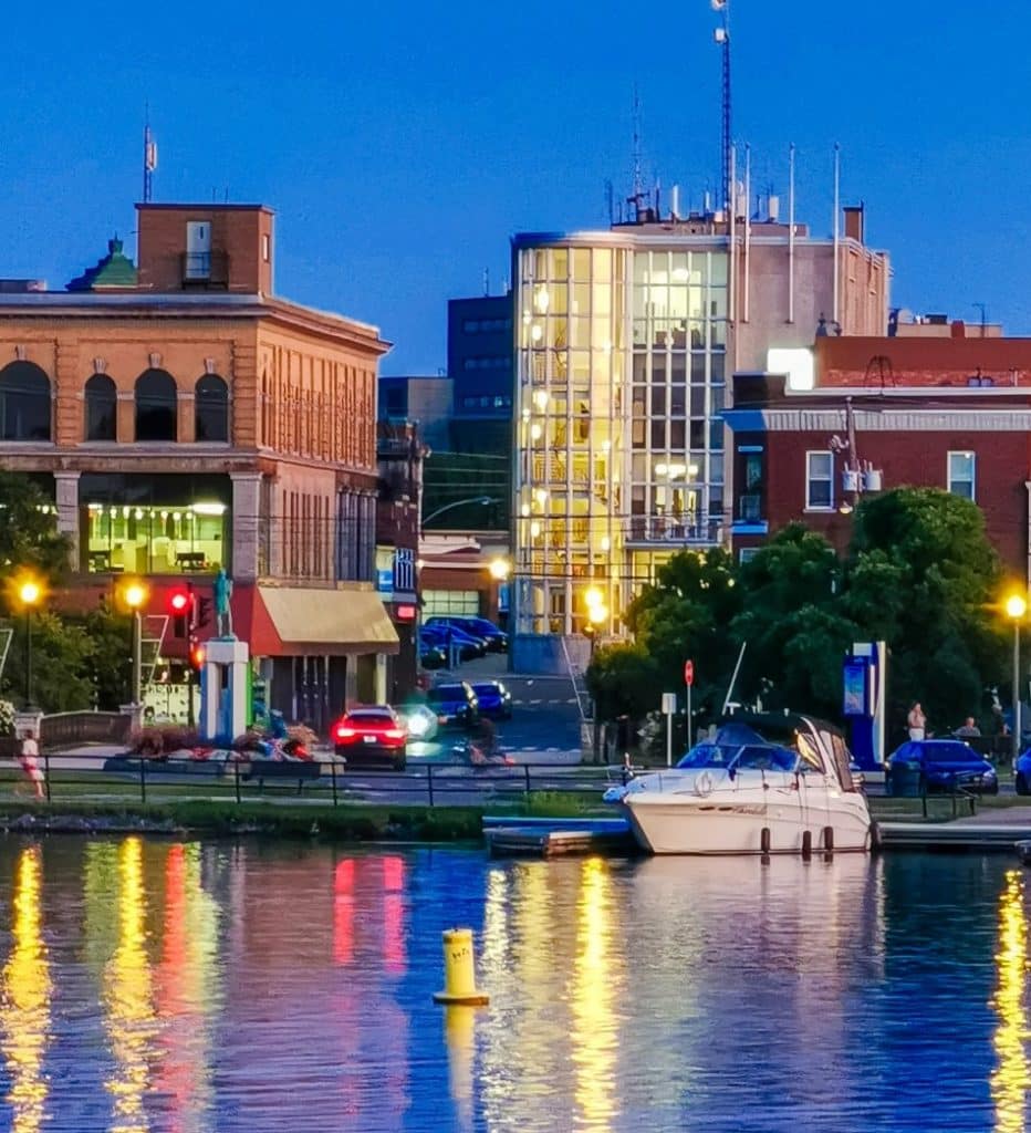
<svg viewBox="0 0 1031 1133"><path fill-rule="evenodd" d="M259 586L282 653L397 653L398 633L375 590Z"/></svg>

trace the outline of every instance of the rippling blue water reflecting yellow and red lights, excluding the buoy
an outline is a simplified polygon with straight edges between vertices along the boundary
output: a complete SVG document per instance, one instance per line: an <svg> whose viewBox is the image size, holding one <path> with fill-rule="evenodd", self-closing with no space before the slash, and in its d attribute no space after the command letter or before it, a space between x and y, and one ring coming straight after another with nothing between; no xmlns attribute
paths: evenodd
<svg viewBox="0 0 1031 1133"><path fill-rule="evenodd" d="M0 1128L1022 1131L1012 859L0 841ZM442 1008L476 930L485 1008Z"/></svg>

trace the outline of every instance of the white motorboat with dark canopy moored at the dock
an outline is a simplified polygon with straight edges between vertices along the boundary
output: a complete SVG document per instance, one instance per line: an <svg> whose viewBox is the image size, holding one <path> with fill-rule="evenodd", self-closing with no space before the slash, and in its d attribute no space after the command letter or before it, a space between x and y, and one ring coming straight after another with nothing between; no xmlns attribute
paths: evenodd
<svg viewBox="0 0 1031 1133"><path fill-rule="evenodd" d="M674 768L606 792L651 853L866 851L872 827L844 736L811 716L730 717Z"/></svg>

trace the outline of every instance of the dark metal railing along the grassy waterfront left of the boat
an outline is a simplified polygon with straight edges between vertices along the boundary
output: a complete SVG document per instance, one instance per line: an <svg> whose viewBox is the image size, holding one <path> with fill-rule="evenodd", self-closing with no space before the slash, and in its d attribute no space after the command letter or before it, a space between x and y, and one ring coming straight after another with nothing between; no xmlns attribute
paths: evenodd
<svg viewBox="0 0 1031 1133"><path fill-rule="evenodd" d="M242 803L262 799L303 798L309 803L340 806L384 794L391 801L436 806L476 804L499 795L527 798L562 792L602 801L607 785L619 782L605 767L569 764L433 763L404 772L352 768L336 760L155 760L151 757L75 757L77 766L51 751L40 757L46 802L133 800L214 800ZM5 782L31 786L17 763L0 770L0 801Z"/></svg>

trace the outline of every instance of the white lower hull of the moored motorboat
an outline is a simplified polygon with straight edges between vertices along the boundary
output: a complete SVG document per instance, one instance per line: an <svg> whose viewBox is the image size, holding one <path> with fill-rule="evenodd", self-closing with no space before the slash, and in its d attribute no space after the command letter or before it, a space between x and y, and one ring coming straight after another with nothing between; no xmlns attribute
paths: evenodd
<svg viewBox="0 0 1031 1133"><path fill-rule="evenodd" d="M864 852L871 824L863 795L749 801L640 792L623 809L640 845L655 854ZM764 834L768 830L768 834ZM808 837L807 837L808 835Z"/></svg>

